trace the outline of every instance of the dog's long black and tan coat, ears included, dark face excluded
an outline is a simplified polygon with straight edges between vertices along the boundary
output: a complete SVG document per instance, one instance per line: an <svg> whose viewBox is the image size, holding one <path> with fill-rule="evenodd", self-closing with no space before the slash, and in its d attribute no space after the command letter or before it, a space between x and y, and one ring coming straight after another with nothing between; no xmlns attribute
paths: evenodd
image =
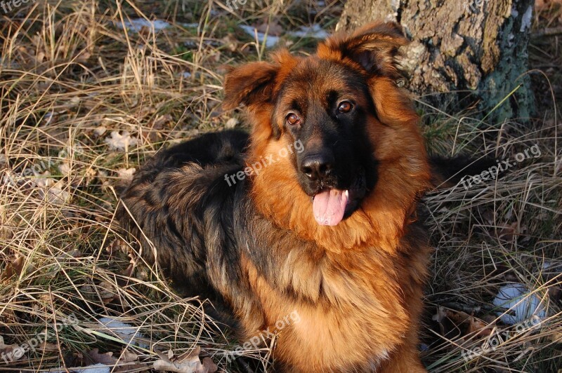
<svg viewBox="0 0 562 373"><path fill-rule="evenodd" d="M301 63L287 52L227 77L225 104L247 105L249 137L226 131L162 151L122 196L119 221L143 255L187 294L211 299L240 339L299 314L277 337L280 371L425 371L417 333L430 247L414 211L430 175L417 115L393 80L402 43L396 26L372 25L329 39L314 57L372 67L362 74L376 108L367 136L377 184L340 224L315 222L289 158L233 186L224 180L288 145L270 98Z"/></svg>

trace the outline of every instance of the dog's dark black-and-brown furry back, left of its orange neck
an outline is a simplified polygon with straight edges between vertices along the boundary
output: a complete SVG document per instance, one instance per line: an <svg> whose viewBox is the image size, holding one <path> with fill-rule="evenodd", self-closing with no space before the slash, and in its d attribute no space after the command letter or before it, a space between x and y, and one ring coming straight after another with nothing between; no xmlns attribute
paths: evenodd
<svg viewBox="0 0 562 373"><path fill-rule="evenodd" d="M207 311L231 326L235 320L210 285L207 262L214 253L231 266L227 276L237 272L237 247L228 236L237 186L229 187L223 175L243 168L247 142L247 133L228 130L159 151L136 173L117 209L121 226L140 241L143 257L173 275L174 287L185 296L209 299L214 307Z"/></svg>

